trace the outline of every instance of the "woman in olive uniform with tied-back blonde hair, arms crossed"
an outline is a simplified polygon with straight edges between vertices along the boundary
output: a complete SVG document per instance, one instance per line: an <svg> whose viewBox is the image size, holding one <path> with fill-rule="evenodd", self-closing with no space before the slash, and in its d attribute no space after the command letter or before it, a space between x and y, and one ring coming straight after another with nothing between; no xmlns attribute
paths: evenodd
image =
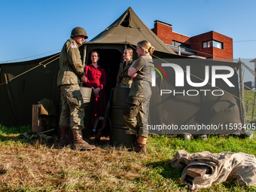
<svg viewBox="0 0 256 192"><path fill-rule="evenodd" d="M123 110L123 121L131 132L136 134L136 146L132 151L146 153L148 137L148 108L151 98L151 71L153 60L151 53L154 47L148 41L137 44L139 58L130 66L128 75L133 78L126 106Z"/></svg>

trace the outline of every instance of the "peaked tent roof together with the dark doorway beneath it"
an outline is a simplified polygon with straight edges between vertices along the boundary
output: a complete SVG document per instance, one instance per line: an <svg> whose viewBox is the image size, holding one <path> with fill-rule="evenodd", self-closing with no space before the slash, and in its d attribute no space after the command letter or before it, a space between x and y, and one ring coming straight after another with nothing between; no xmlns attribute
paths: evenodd
<svg viewBox="0 0 256 192"><path fill-rule="evenodd" d="M128 8L114 23L100 32L99 35L96 35L91 41L84 42L81 53L86 53L84 54L84 60L87 64L90 64L90 52L92 50L99 52L99 65L105 69L108 77L107 98L110 95L111 87L115 87L119 65L123 61L123 50L125 47L131 47L134 53L133 59L137 59L136 44L142 40L148 40L153 44L155 56L178 57L139 19L132 8Z"/></svg>

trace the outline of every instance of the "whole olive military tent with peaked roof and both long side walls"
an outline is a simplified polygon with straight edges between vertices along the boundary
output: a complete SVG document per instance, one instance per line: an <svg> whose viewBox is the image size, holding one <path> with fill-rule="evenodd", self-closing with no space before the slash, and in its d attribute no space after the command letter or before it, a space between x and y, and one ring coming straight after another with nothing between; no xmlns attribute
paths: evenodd
<svg viewBox="0 0 256 192"><path fill-rule="evenodd" d="M186 70L186 57L178 56L173 52L151 29L139 19L132 8L128 8L117 20L107 29L99 33L91 41L84 42L80 47L81 58L86 64L90 64L90 52L96 50L99 52L99 65L105 69L107 76L107 85L105 87L107 98L110 96L111 87L115 87L117 71L120 62L122 62L122 53L125 47L131 47L136 50L136 43L142 40L148 40L155 47L154 62L161 66L161 63L168 59L175 59L175 62ZM135 52L134 52L135 53ZM53 100L59 108L59 90L56 87L56 75L59 70L59 59L50 62L45 68L38 64L46 59L44 63L53 60L55 57L47 56L27 62L15 62L2 64L1 67L1 112L0 122L9 125L23 125L31 123L32 105L39 100L47 98ZM136 59L136 54L134 56ZM187 60L188 61L188 60ZM230 66L237 68L237 64L232 62L209 61L206 59L189 59L194 67L191 73L204 78L204 66ZM44 64L43 63L43 64ZM15 78L12 77L26 72L28 69L38 66L36 69L27 72L25 75ZM239 114L239 89L236 73L230 78L235 87L227 87L223 81L216 83L217 87L222 87L227 92L224 96L203 96L200 92L197 96L172 96L172 94L160 96L160 90L175 89L175 72L173 69L164 69L168 76L168 81L160 80L157 76L157 87L152 87L152 98L150 111L150 122L159 124L172 124L178 126L185 124L202 123L239 123L241 122ZM225 72L224 72L225 73ZM192 79L192 78L191 78ZM200 82L193 79L194 82ZM178 88L180 89L180 88ZM192 87L184 85L183 90L192 90ZM198 89L211 89L209 84ZM196 90L198 90L196 89ZM181 91L183 91L181 90ZM193 90L194 87L193 87ZM167 121L166 121L167 120ZM162 131L157 134L163 133ZM172 131L169 132L172 134Z"/></svg>

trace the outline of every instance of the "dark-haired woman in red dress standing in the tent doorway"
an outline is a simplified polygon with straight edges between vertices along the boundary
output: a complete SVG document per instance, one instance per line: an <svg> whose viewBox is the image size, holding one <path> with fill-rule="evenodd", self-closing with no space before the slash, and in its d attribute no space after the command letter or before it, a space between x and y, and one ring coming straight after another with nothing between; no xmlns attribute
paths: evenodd
<svg viewBox="0 0 256 192"><path fill-rule="evenodd" d="M99 123L99 117L105 115L105 84L106 77L104 69L98 65L99 53L93 51L90 53L92 64L84 69L85 77L87 78L86 87L93 88L93 132L96 133L96 128Z"/></svg>

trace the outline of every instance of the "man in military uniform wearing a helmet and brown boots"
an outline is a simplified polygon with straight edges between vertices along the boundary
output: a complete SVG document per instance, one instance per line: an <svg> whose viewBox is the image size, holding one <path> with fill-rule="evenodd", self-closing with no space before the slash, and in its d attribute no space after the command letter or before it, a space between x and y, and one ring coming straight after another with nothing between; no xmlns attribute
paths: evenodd
<svg viewBox="0 0 256 192"><path fill-rule="evenodd" d="M59 73L57 85L61 90L62 112L59 119L61 131L60 145L69 145L69 127L74 136L74 148L93 150L94 145L84 141L81 130L84 129L84 102L79 84L86 82L84 66L78 46L87 37L84 28L75 27L71 38L66 41L59 55Z"/></svg>

